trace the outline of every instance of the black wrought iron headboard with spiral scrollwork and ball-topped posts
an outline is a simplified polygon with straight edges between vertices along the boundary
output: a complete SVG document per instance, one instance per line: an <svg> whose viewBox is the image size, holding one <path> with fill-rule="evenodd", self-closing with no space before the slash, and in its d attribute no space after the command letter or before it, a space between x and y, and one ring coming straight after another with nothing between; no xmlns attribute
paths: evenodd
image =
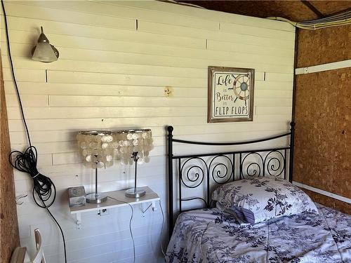
<svg viewBox="0 0 351 263"><path fill-rule="evenodd" d="M212 178L213 182L215 184L224 184L225 182L229 182L229 180L235 180L235 164L237 161L239 161L239 170L237 171L239 173L239 179L244 178L245 176L265 176L267 173L268 175L273 175L272 173L277 172L275 175L282 175L284 174L284 178L286 179L286 155L287 151L289 151L289 173L288 173L288 180L289 182L292 182L292 175L293 175L293 137L294 137L294 130L295 130L295 123L291 122L290 123L290 132L289 133L284 133L282 135L277 135L273 137L267 137L265 139L260 139L260 140L250 140L246 142L194 142L194 141L189 141L189 140L178 140L173 138L173 126L168 126L168 229L169 229L169 238L171 238L172 232L173 232L173 227L174 227L174 197L173 196L173 160L178 160L178 191L179 191L179 210L178 212L181 213L182 210L182 202L185 201L192 201L194 199L199 199L201 201L204 201L204 207L208 208L211 205L211 186L210 186L210 170L211 170L211 165L214 164L213 161L217 159L218 157L222 157L227 159L227 161L230 163L230 168L232 172L230 173L230 176L227 176L228 172L228 167L225 166L226 173L225 175L221 175L220 172L217 171L216 177L218 179L223 179L222 182L218 182L215 178L215 169L217 166L220 166L222 163L217 163L213 168L212 168ZM212 145L212 146L233 146L233 145L243 145L243 144L253 144L253 143L258 143L258 142L267 142L270 140L275 140L281 137L290 137L290 143L289 146L286 147L274 147L274 148L269 148L269 149L256 149L256 150L239 150L239 151L225 151L225 152L216 152L216 153L207 153L207 154L190 154L190 155L173 155L173 142L178 142L180 144L197 144L197 145ZM277 156L272 156L272 154L278 154ZM246 158L250 155L255 155L256 157L259 158L260 163L258 162L251 162L251 163L245 163ZM237 160L239 156L239 160ZM207 162L204 161L204 158L208 157L210 158ZM191 168L199 168L201 170L201 180L199 173L195 173L194 179L190 178L189 176L189 171L190 169L187 169L187 180L189 182L194 183L194 185L189 185L185 183L185 180L183 180L183 169L185 168L185 164L191 160L194 159L199 159L201 160L202 165L206 168L205 171L200 167L200 166L191 166ZM249 160L249 159L247 159ZM282 160L282 163L281 161ZM182 164L183 161L183 164ZM272 164L272 161L277 161L276 165ZM209 163L207 165L207 163ZM223 165L223 164L222 164ZM255 168L253 168L255 166ZM281 167L282 166L282 167ZM246 170L245 170L246 168ZM250 172L251 168L251 172ZM206 172L206 174L205 174ZM192 197L192 198L182 198L182 185L187 187L187 188L197 188L201 184L203 184L204 179L206 178L206 184L204 185L206 189L206 197ZM199 180L199 182L197 182ZM206 200L205 200L206 198Z"/></svg>

